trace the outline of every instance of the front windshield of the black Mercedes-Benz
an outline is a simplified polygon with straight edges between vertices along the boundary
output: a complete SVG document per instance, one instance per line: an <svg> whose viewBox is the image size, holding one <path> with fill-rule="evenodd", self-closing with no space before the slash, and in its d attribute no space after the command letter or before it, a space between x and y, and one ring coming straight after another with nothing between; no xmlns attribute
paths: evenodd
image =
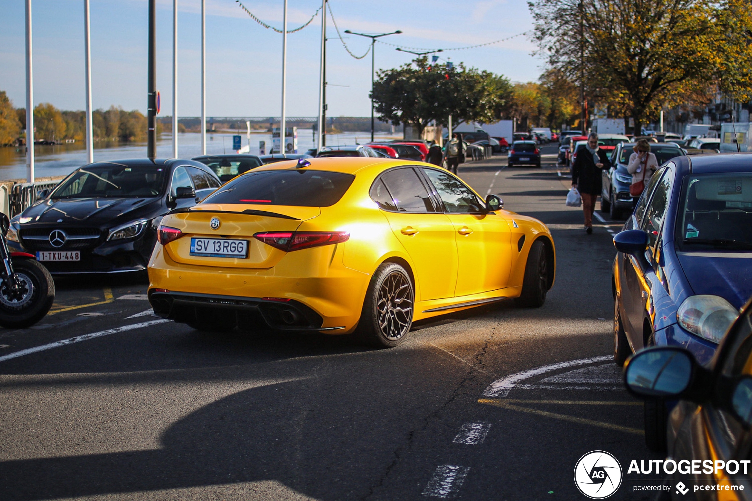
<svg viewBox="0 0 752 501"><path fill-rule="evenodd" d="M156 197L164 180L165 168L161 167L89 165L71 174L51 198Z"/></svg>

